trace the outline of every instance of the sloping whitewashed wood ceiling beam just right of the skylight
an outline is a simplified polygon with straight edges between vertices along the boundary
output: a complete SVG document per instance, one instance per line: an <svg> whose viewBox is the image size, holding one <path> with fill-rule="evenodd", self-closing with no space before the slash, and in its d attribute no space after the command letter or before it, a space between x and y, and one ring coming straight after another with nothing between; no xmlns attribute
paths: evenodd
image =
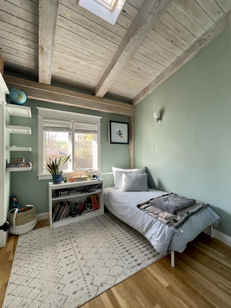
<svg viewBox="0 0 231 308"><path fill-rule="evenodd" d="M155 26L171 0L145 0L137 13L103 75L97 83L93 95L103 97L113 81L132 58L137 48Z"/></svg>

